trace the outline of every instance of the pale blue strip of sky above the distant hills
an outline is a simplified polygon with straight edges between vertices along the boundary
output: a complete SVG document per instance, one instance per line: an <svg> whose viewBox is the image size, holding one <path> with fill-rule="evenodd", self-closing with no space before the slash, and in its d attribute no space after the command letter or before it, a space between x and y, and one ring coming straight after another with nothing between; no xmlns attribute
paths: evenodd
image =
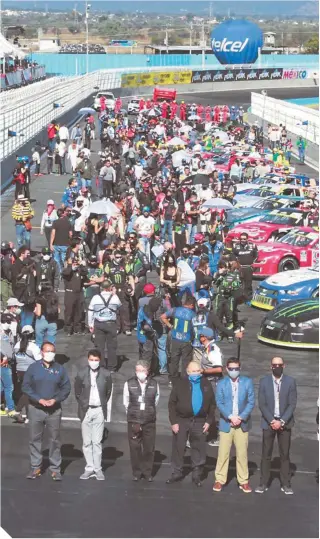
<svg viewBox="0 0 320 539"><path fill-rule="evenodd" d="M90 0L89 0L90 1ZM150 0L91 0L92 10L99 11L144 11L148 13L167 13L167 14L180 14L183 15L186 12L192 12L199 16L209 13L209 1L193 0L193 1L172 1L161 0L150 2ZM227 13L228 9L234 12L236 16L245 15L270 15L270 16L315 16L318 9L317 0L254 0L254 1L242 1L233 0L226 2L226 0L214 0L212 3L212 13ZM31 9L42 10L46 9L54 11L69 11L75 8L79 11L84 10L85 2L83 1L70 1L70 0L3 0L2 9Z"/></svg>

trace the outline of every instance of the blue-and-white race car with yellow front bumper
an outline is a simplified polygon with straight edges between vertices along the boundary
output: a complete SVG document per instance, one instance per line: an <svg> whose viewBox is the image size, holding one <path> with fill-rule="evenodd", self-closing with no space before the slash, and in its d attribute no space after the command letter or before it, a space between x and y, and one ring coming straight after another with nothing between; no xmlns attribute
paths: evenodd
<svg viewBox="0 0 320 539"><path fill-rule="evenodd" d="M271 311L293 299L319 297L319 273L316 269L299 269L276 273L262 281L256 289L251 305Z"/></svg>

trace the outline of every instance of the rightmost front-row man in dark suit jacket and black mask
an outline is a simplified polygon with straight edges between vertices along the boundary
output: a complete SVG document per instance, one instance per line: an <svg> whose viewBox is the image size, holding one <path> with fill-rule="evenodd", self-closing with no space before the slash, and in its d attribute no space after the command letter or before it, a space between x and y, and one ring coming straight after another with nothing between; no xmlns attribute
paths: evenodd
<svg viewBox="0 0 320 539"><path fill-rule="evenodd" d="M290 485L289 451L291 429L294 425L293 414L297 404L297 387L294 378L283 374L284 368L283 359L274 357L271 360L272 374L262 378L259 384L263 437L261 479L260 485L256 488L258 494L263 494L268 490L273 443L276 436L280 453L281 490L285 494L293 494Z"/></svg>

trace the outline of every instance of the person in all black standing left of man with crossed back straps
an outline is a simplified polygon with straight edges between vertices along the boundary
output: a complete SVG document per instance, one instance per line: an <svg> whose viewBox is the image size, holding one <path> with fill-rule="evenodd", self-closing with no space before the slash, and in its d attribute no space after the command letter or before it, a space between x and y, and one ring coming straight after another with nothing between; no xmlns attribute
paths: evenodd
<svg viewBox="0 0 320 539"><path fill-rule="evenodd" d="M73 253L73 255L72 255ZM83 284L87 282L87 268L72 251L62 270L64 279L64 331L68 337L74 332L81 335L84 317Z"/></svg>

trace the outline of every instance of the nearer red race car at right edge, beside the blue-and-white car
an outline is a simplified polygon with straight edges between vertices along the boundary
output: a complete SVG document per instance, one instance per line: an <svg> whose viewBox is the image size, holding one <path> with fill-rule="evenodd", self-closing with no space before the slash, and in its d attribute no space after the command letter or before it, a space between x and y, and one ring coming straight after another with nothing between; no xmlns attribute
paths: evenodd
<svg viewBox="0 0 320 539"><path fill-rule="evenodd" d="M266 277L298 268L316 268L319 234L310 227L294 228L276 242L261 243L252 265L253 275Z"/></svg>

